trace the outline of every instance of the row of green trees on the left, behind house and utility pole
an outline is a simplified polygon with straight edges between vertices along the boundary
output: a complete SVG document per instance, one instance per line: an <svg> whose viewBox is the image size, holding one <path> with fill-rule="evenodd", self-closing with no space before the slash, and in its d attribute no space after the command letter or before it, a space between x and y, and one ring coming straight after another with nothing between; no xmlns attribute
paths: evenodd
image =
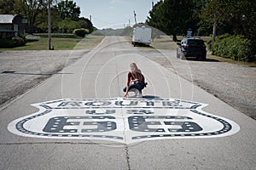
<svg viewBox="0 0 256 170"><path fill-rule="evenodd" d="M80 7L72 0L0 0L0 14L20 14L27 19L27 32L47 32L48 4L51 3L53 32L72 33L84 28L88 33L95 30L91 21L80 17Z"/></svg>

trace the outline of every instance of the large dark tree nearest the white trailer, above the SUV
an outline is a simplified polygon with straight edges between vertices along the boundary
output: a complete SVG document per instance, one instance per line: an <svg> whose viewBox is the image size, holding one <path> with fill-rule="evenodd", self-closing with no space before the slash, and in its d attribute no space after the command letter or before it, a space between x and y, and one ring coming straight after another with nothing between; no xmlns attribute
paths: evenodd
<svg viewBox="0 0 256 170"><path fill-rule="evenodd" d="M146 21L177 41L177 34L184 34L189 28L197 29L198 18L195 16L196 4L191 0L165 0L154 5Z"/></svg>

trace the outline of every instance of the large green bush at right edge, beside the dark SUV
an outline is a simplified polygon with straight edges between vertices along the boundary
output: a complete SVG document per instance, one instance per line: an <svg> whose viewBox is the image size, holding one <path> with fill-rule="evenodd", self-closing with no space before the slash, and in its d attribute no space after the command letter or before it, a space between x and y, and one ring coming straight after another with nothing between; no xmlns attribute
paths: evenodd
<svg viewBox="0 0 256 170"><path fill-rule="evenodd" d="M208 48L212 48L212 40L207 42ZM214 54L235 60L253 60L253 42L243 36L231 36L224 34L218 36L214 42Z"/></svg>

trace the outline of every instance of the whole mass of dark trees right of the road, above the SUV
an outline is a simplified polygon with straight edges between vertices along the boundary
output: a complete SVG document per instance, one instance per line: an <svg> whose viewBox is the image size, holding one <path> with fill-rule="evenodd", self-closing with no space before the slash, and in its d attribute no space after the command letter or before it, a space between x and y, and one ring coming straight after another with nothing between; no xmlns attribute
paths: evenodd
<svg viewBox="0 0 256 170"><path fill-rule="evenodd" d="M146 24L172 35L174 41L188 29L209 36L214 23L218 35L230 33L255 41L255 9L252 0L160 0L149 11Z"/></svg>

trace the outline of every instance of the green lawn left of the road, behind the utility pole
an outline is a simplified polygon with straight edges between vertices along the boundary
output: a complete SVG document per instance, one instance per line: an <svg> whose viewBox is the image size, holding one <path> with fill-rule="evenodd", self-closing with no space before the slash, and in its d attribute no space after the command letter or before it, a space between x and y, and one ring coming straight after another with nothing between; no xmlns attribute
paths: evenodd
<svg viewBox="0 0 256 170"><path fill-rule="evenodd" d="M27 39L26 45L17 48L0 48L0 50L48 50L49 40L47 34L36 34L39 38ZM55 50L88 49L94 48L102 42L103 36L88 35L75 37L72 34L53 34L51 44Z"/></svg>

